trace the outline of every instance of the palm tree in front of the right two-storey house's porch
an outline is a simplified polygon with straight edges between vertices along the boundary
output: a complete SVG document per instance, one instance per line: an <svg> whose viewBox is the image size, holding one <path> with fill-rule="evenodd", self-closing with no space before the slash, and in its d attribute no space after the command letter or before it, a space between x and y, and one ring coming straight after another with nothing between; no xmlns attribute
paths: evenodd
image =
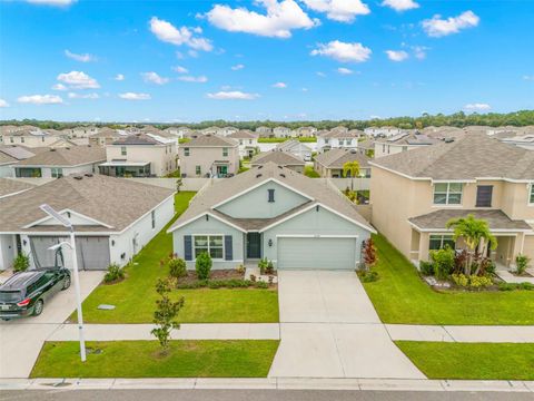
<svg viewBox="0 0 534 401"><path fill-rule="evenodd" d="M454 241L462 238L465 245L467 245L468 252L464 266L465 275L471 274L473 257L478 258L479 255L485 255L488 246L492 250L497 247L497 239L490 232L487 222L482 218L475 218L472 214L467 215L467 217L451 218L446 227L454 229ZM479 270L481 264L478 264L475 274L478 274Z"/></svg>

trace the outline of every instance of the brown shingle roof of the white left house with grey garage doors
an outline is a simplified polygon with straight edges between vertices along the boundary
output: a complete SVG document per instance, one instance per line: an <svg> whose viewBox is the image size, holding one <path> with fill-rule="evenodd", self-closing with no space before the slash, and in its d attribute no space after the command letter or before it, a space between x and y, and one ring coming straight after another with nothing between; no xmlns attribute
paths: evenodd
<svg viewBox="0 0 534 401"><path fill-rule="evenodd" d="M69 209L101 222L105 226L80 226L76 231L120 232L174 194L172 189L103 175L66 176L29 192L0 199L1 232L32 232L23 228L47 215L43 203L57 211ZM47 226L47 231L53 226ZM65 228L63 228L65 231Z"/></svg>

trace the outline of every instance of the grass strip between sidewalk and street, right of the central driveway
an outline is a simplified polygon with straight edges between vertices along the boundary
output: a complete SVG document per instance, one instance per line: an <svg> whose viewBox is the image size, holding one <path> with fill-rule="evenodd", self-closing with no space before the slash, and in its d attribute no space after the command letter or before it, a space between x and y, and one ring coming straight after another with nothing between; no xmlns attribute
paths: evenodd
<svg viewBox="0 0 534 401"><path fill-rule="evenodd" d="M395 343L428 379L534 380L534 343Z"/></svg>

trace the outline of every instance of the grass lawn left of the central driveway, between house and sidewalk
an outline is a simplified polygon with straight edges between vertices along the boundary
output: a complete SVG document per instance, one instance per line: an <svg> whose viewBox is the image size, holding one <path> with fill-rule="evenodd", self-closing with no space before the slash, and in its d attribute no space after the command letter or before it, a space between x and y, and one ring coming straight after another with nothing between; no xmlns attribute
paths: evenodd
<svg viewBox="0 0 534 401"><path fill-rule="evenodd" d="M180 215L195 193L176 195L176 212ZM172 222L169 223L169 225ZM169 226L168 225L168 226ZM167 227L168 227L167 226ZM87 323L151 323L158 295L156 281L168 274L159 261L172 252L172 235L165 227L135 257L126 268L126 280L112 285L99 285L83 301L83 320ZM278 294L273 290L180 290L172 296L184 295L180 311L182 323L271 323L278 322ZM116 305L112 311L98 310L100 304ZM76 321L72 313L71 321Z"/></svg>

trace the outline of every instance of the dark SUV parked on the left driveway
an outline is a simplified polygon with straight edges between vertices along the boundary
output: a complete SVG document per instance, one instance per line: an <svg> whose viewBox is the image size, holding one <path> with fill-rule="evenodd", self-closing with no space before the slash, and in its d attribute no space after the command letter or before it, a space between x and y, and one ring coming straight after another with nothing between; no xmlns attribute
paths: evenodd
<svg viewBox="0 0 534 401"><path fill-rule="evenodd" d="M40 268L13 274L0 286L0 319L38 316L44 304L70 286L67 268Z"/></svg>

